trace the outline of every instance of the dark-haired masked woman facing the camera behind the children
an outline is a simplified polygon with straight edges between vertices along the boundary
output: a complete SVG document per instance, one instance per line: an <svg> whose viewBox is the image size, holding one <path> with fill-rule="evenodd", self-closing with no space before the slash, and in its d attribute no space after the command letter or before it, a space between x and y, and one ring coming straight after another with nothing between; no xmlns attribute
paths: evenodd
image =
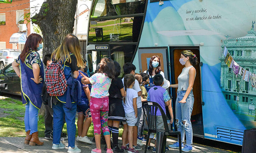
<svg viewBox="0 0 256 153"><path fill-rule="evenodd" d="M146 71L144 71L144 73L147 73L149 76L150 76L150 82L149 82L149 84L146 84L145 85L145 88L146 88L146 90L147 90L147 92L148 92L148 90L150 89L150 88L152 88L152 87L154 87L155 85L154 85L154 83L153 83L153 78L154 78L154 76L156 75L156 74L161 74L162 76L163 76L163 78L164 78L164 80L165 81L167 81L166 79L165 79L165 74L162 72L162 70L161 70L161 61L160 61L160 58L157 56L157 55L155 55L155 56L152 56L151 58L150 58L150 63L149 63L149 65L148 65L148 70L146 70ZM169 81L168 81L169 82ZM170 82L169 82L170 83ZM163 85L163 87L164 87L165 85ZM169 86L168 86L169 87ZM168 88L167 87L167 88Z"/></svg>

